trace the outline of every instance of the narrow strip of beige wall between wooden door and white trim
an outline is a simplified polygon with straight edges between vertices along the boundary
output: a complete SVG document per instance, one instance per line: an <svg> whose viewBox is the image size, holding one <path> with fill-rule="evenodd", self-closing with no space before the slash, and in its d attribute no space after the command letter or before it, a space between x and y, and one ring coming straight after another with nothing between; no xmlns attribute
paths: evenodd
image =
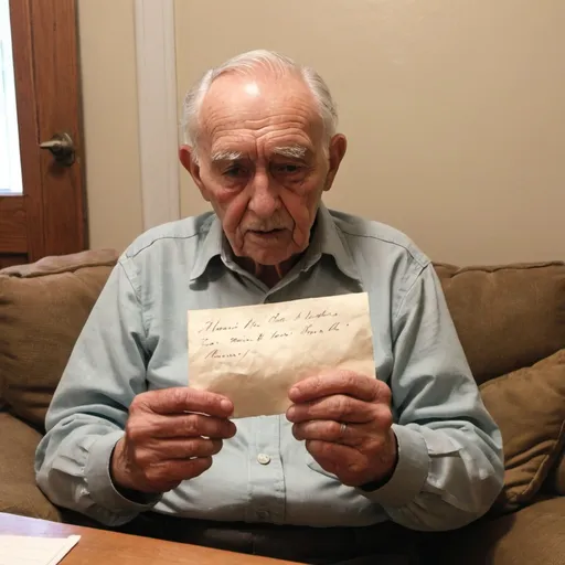
<svg viewBox="0 0 565 565"><path fill-rule="evenodd" d="M78 0L90 247L142 230L134 0Z"/></svg>

